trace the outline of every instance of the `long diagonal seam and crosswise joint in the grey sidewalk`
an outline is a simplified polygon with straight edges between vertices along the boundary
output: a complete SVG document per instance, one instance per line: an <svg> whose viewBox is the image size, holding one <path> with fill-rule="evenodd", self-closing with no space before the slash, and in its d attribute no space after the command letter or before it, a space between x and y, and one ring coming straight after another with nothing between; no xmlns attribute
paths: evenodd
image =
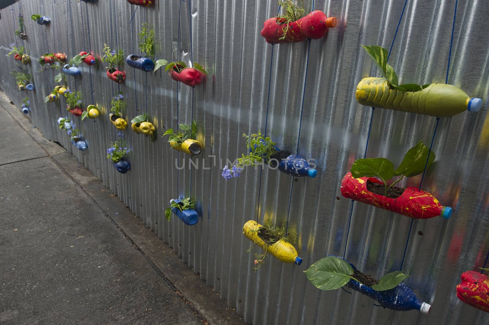
<svg viewBox="0 0 489 325"><path fill-rule="evenodd" d="M95 206L97 206L100 211L103 212L103 214L111 221L111 223L113 225L115 225L115 227L122 233L122 235L127 239L127 241L133 245L133 247L143 256L143 258L146 260L146 262L148 262L148 264L151 265L151 267L153 267L153 269L156 271L156 273L158 273L158 275L166 282L166 284L168 284L168 286L175 292L175 294L180 297L180 299L185 303L185 305L187 305L187 307L192 311L192 313L205 325L209 325L209 322L207 322L207 320L205 319L205 317L192 305L192 303L187 299L185 298L185 296L181 293L180 290L178 290L177 286L175 284L173 284L170 279L168 279L166 277L166 275L158 268L158 266L146 255L146 253L133 241L133 239L112 219L111 215L108 214L104 208L98 204L97 201L95 201L95 199L80 185L80 183L78 183L69 173L68 171L63 168L63 166L58 163L56 161L56 159L54 159L54 157L49 154L49 152L43 147L43 145L41 143L39 143L29 132L27 132L27 130L22 126L22 124L17 121L17 119L12 115L10 114L10 112L5 108L5 106L3 106L3 104L1 103L0 101L0 106L2 106L2 108L5 110L5 112L7 112L8 115L10 115L14 120L15 122L17 122L17 124L19 124L19 126L25 131L25 133L27 133L27 135L34 141L36 142L43 150L44 152L46 153L46 156L44 157L38 157L38 158L32 158L32 159L25 159L23 161L28 161L28 160L33 160L33 159L39 159L39 158L45 158L45 157L49 157L51 158L51 160L63 171L63 173L65 173L65 175L67 175L67 177L73 181L73 183L75 183L76 185L78 185L78 187L82 190L83 193L85 193L85 195L90 199L90 201L92 201ZM30 120L29 120L30 122ZM32 122L31 122L32 123ZM64 151L66 152L66 151ZM62 152L60 152L62 153ZM60 154L60 153L57 153L57 154ZM76 158L76 157L75 157ZM20 161L19 161L20 162ZM14 163L19 163L19 162L14 162ZM9 164L9 163L4 163L2 165L6 165L6 164ZM0 166L2 166L0 165ZM91 173L91 172L90 172ZM93 173L92 173L93 175Z"/></svg>

